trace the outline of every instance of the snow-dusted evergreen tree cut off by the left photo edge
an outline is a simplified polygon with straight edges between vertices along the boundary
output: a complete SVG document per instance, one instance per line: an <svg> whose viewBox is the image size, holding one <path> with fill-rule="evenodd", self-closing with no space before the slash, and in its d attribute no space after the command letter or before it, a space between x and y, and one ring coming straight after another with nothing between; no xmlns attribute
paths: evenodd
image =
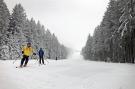
<svg viewBox="0 0 135 89"><path fill-rule="evenodd" d="M9 10L3 0L0 0L0 58L5 59L8 43ZM6 49L6 52L5 52ZM4 58L3 58L4 57Z"/></svg>

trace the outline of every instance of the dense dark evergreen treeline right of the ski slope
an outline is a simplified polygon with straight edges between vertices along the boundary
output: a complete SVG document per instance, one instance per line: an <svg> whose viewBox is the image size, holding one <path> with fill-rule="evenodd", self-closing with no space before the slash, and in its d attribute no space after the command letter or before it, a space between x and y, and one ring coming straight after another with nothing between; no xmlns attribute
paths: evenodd
<svg viewBox="0 0 135 89"><path fill-rule="evenodd" d="M110 0L82 54L88 60L134 63L135 0Z"/></svg>

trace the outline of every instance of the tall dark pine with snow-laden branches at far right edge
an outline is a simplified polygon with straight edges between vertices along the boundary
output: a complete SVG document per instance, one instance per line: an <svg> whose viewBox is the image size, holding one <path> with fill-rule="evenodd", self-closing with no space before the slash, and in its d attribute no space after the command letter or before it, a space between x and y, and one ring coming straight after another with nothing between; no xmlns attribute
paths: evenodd
<svg viewBox="0 0 135 89"><path fill-rule="evenodd" d="M121 1L122 2L122 1ZM122 15L120 17L120 22L121 25L118 29L118 31L121 34L121 44L124 49L124 57L127 62L134 63L134 58L135 58L135 1L134 0L129 0L129 1L124 1L121 5L124 6L122 7Z"/></svg>

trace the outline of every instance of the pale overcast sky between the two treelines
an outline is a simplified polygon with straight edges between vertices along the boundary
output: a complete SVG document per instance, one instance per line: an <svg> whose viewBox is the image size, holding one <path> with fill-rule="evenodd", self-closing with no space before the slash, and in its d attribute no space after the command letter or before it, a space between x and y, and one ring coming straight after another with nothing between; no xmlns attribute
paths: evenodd
<svg viewBox="0 0 135 89"><path fill-rule="evenodd" d="M60 43L80 50L100 24L109 0L4 0L12 11L21 3L28 18L39 20Z"/></svg>

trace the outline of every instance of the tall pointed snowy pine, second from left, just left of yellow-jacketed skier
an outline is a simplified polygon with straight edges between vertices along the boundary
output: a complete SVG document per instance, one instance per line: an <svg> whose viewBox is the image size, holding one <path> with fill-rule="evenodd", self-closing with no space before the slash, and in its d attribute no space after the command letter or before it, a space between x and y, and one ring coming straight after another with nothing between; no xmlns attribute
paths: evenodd
<svg viewBox="0 0 135 89"><path fill-rule="evenodd" d="M12 59L19 58L21 56L21 47L26 42L23 30L26 24L26 13L21 6L17 4L10 18L9 31L10 37L10 53L13 56ZM15 57L15 58L14 58Z"/></svg>

